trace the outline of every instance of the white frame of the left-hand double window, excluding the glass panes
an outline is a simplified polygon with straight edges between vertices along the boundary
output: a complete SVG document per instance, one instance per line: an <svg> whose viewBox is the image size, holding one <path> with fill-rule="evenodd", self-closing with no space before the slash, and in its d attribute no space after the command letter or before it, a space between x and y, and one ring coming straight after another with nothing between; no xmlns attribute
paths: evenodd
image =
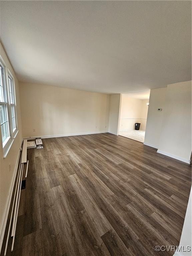
<svg viewBox="0 0 192 256"><path fill-rule="evenodd" d="M7 68L3 58L0 55L0 65L3 68L3 77L2 77L2 85L3 85L3 102L0 102L0 105L6 105L6 112L7 112L7 121L8 121L8 133L9 136L3 142L2 138L2 130L1 130L1 140L2 140L2 148L4 158L7 156L11 145L18 133L18 126L17 126L17 111L16 111L16 95L15 95L15 79L11 74L10 70ZM9 89L9 77L12 80L12 88L13 88L13 99L14 104L10 102L10 89ZM14 105L14 115L15 115L15 129L12 129L12 117L11 117L11 105ZM0 126L1 129L1 126Z"/></svg>

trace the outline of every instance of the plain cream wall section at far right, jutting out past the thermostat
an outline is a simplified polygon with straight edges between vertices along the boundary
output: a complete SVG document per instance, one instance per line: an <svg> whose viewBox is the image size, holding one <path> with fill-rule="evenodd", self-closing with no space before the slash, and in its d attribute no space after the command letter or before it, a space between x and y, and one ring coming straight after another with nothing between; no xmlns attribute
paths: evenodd
<svg viewBox="0 0 192 256"><path fill-rule="evenodd" d="M159 150L190 161L191 81L167 86Z"/></svg>

